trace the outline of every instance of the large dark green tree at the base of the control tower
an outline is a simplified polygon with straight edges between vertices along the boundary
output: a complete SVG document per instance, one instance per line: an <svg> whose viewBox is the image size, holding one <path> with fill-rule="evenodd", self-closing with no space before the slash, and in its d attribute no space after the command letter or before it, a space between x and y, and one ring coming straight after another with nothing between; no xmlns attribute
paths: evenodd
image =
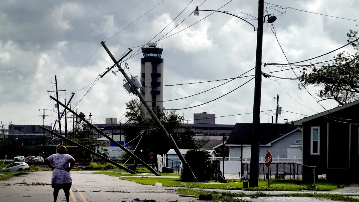
<svg viewBox="0 0 359 202"><path fill-rule="evenodd" d="M130 100L126 103L126 118L128 122L134 124L134 127L124 127L126 142L130 142L135 155L139 156L145 162L155 162L157 154L162 155L173 149L173 144L168 140L165 133L155 120L146 115L137 99ZM180 149L197 148L193 132L190 128L180 130L182 116L175 111L154 109L155 114L161 121L167 132L172 135L174 141ZM142 134L141 134L142 133Z"/></svg>

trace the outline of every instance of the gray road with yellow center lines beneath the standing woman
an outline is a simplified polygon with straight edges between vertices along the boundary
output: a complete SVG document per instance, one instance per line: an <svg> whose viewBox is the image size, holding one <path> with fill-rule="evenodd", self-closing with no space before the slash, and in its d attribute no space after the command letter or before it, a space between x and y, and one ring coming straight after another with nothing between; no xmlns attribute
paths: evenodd
<svg viewBox="0 0 359 202"><path fill-rule="evenodd" d="M132 199L155 199L156 201L188 202L194 198L179 197L175 188L155 187L136 184L118 177L93 174L93 171L71 171L73 186L70 202L132 201ZM24 182L26 184L24 184ZM0 201L42 202L53 201L50 184L29 185L31 183L51 183L51 172L32 172L0 182ZM95 191L95 192L93 192ZM98 192L101 191L101 192ZM65 200L62 190L57 201Z"/></svg>

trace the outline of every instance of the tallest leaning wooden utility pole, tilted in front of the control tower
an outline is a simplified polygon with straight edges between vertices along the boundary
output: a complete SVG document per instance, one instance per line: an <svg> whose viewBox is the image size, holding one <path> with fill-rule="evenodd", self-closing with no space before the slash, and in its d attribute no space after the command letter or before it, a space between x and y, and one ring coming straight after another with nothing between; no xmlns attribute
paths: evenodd
<svg viewBox="0 0 359 202"><path fill-rule="evenodd" d="M263 1L263 0L262 0ZM263 16L263 9L262 9L262 16ZM263 17L262 17L263 18ZM259 21L259 20L258 20ZM258 23L259 24L259 23ZM262 24L262 28L263 28L263 24ZM106 50L107 54L110 56L110 58L112 59L112 61L115 63L115 65L117 66L118 70L123 74L123 76L126 78L127 82L130 84L133 92L135 95L137 95L139 97L139 99L141 100L142 104L146 107L147 111L149 112L149 114L151 115L152 119L155 120L159 127L165 132L167 138L169 139L169 141L171 141L173 143L174 146L174 151L176 151L178 157L180 158L183 167L186 167L193 175L193 178L195 180L195 182L198 182L195 174L192 172L190 165L188 165L187 161L185 160L185 157L183 157L182 153L180 152L180 149L178 148L176 142L174 141L173 137L171 136L171 134L169 134L167 132L167 130L164 128L164 126L162 125L161 121L157 118L157 116L155 115L155 113L152 111L152 109L148 106L147 102L144 100L144 98L142 97L142 95L140 94L140 92L138 91L138 89L136 88L136 86L132 83L131 79L129 78L129 76L127 76L126 72L121 68L121 66L118 64L121 59L119 61L117 61L115 59L115 57L112 55L112 53L108 50L107 46L105 45L104 41L101 41L101 45L103 46L103 48ZM131 52L132 50L130 50ZM261 64L260 64L261 65ZM261 66L260 66L261 67ZM261 70L261 69L260 69ZM258 183L258 182L257 182Z"/></svg>

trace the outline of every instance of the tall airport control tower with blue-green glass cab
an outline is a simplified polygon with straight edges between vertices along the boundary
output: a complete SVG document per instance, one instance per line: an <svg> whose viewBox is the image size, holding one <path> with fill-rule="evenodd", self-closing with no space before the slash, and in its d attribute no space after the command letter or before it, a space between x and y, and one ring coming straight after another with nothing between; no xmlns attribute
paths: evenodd
<svg viewBox="0 0 359 202"><path fill-rule="evenodd" d="M141 58L141 95L150 107L163 109L163 49L157 43L148 43L142 47Z"/></svg>

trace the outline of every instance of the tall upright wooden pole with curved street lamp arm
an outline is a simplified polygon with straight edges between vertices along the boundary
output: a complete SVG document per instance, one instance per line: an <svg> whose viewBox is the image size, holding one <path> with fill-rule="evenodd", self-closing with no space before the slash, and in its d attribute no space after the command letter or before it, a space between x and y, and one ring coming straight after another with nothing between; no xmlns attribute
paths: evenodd
<svg viewBox="0 0 359 202"><path fill-rule="evenodd" d="M195 16L199 16L200 11L211 11L211 12L220 12L228 15L232 15L236 18L239 18L251 26L253 26L254 31L257 31L257 50L256 50L256 73L255 73L255 84L254 84L254 101L253 101L253 122L252 122L252 147L251 147L251 170L250 170L250 179L249 187L258 187L258 170L259 170L259 121L260 121L260 110L261 110L261 90L262 90L262 47L263 47L263 24L265 23L265 17L268 17L267 22L273 23L277 18L271 16L272 14L268 14L263 16L264 14L264 0L258 0L258 25L256 27L248 22L247 20L234 15L232 13L228 13L225 11L218 10L202 10L199 9L198 6L196 10L193 12ZM262 21L263 19L263 21ZM241 143L242 144L242 143Z"/></svg>

